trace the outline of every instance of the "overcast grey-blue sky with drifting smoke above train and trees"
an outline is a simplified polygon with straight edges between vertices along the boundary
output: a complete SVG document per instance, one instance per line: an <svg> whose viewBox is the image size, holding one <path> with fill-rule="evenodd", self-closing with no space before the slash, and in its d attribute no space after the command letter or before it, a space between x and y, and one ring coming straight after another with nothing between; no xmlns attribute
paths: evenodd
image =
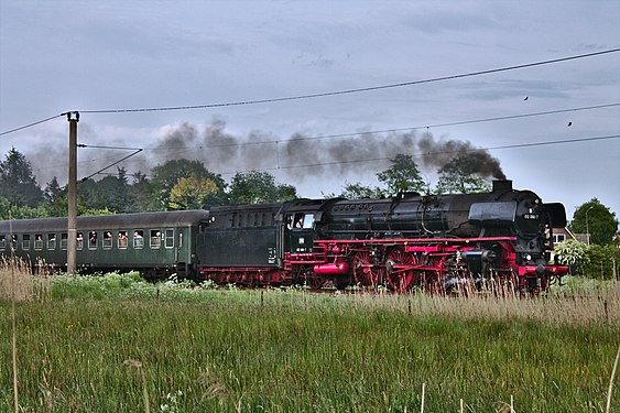
<svg viewBox="0 0 620 413"><path fill-rule="evenodd" d="M0 0L0 132L78 110L79 143L144 149L129 172L199 159L227 181L270 171L305 197L378 185L398 153L434 185L432 137L437 152L488 149L569 217L592 197L619 215L620 53L416 84L618 47L617 0ZM211 107L88 112L184 106ZM579 110L536 115L565 109ZM58 117L0 137L0 153L63 185L67 141ZM80 149L78 175L129 153Z"/></svg>

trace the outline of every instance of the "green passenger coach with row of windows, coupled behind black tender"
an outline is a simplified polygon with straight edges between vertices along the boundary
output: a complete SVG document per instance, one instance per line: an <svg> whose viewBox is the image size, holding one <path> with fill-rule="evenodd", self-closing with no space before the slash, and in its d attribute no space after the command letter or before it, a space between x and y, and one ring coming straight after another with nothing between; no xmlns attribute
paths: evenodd
<svg viewBox="0 0 620 413"><path fill-rule="evenodd" d="M80 273L137 270L146 279L172 273L193 278L196 240L207 210L119 214L77 218L77 269ZM0 254L67 267L67 218L0 221Z"/></svg>

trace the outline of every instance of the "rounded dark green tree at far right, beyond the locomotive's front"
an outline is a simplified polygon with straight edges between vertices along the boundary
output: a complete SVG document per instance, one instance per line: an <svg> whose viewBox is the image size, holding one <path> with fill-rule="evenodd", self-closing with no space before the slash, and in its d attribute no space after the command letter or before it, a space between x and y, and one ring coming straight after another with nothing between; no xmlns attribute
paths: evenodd
<svg viewBox="0 0 620 413"><path fill-rule="evenodd" d="M577 208L568 228L573 232L589 233L590 243L607 246L613 243L618 232L618 219L616 213L610 211L597 198L592 198Z"/></svg>

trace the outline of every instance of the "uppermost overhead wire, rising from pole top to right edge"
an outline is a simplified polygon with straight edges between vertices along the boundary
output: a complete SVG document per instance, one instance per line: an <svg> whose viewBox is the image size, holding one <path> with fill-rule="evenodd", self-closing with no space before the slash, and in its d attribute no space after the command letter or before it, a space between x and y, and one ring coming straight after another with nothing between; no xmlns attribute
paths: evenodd
<svg viewBox="0 0 620 413"><path fill-rule="evenodd" d="M129 113L129 112L154 112L154 111L172 111L172 110L192 110L192 109L208 109L208 108L220 108L220 107L228 107L228 106L243 106L243 105L257 105L257 104L272 104L279 101L289 101L289 100L302 100L302 99L313 99L313 98L323 98L328 96L337 96L337 95L348 95L348 94L359 94L363 91L372 91L372 90L381 90L381 89L390 89L396 87L405 87L405 86L413 86L413 85L421 85L427 84L433 81L442 81L442 80L452 80L452 79L459 79L464 77L471 77L471 76L480 76L480 75L489 75L491 73L499 73L499 72L508 72L508 70L516 70L526 67L534 67L534 66L542 66L548 65L553 63L561 63L561 62L568 62L575 61L578 58L585 57L592 57L609 53L620 52L620 48L610 48L606 51L599 51L594 53L586 53L580 55L567 56L567 57L559 57L550 61L541 61L534 63L526 63L522 65L515 66L507 66L507 67L499 67L492 68L487 70L479 70L479 72L470 72L464 73L458 75L449 75L449 76L442 76L442 77L433 77L428 79L422 80L412 80L412 81L402 81L396 84L389 84L389 85L380 85L380 86L370 86L370 87L362 87L356 89L346 89L346 90L337 90L337 91L326 91L320 94L307 94L307 95L297 95L297 96L289 96L282 98L269 98L269 99L255 99L255 100L241 100L241 101L232 101L232 102L224 102L224 104L207 104L207 105L191 105L191 106L168 106L168 107L155 107L155 108L138 108L138 109L102 109L102 110L81 110L84 113Z"/></svg>

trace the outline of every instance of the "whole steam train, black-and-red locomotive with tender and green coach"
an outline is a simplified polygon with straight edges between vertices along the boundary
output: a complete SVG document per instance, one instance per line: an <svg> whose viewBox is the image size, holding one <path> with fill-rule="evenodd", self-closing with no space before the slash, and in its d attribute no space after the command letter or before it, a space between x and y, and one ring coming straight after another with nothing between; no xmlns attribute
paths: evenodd
<svg viewBox="0 0 620 413"><path fill-rule="evenodd" d="M81 272L139 270L219 284L447 292L498 282L541 291L568 272L548 263L553 228L564 226L562 204L496 181L481 194L78 217L77 260ZM1 221L0 253L64 269L66 228L66 218Z"/></svg>

